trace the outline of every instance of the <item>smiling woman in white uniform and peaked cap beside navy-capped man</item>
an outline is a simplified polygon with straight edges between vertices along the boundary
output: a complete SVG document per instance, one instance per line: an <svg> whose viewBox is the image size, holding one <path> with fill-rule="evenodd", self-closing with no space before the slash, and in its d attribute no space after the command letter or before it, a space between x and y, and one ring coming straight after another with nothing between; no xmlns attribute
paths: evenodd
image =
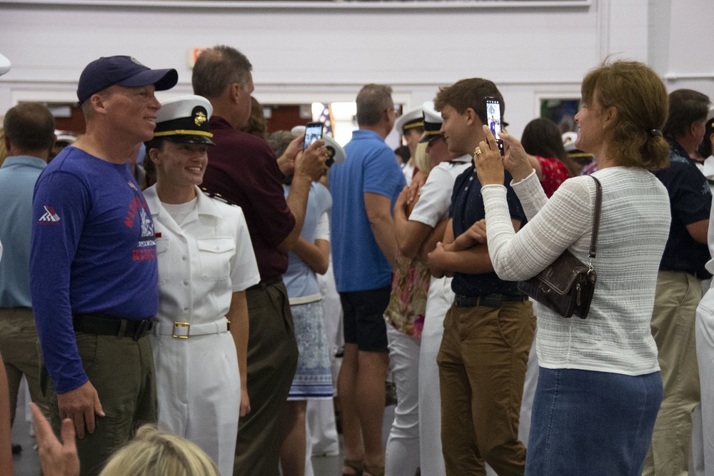
<svg viewBox="0 0 714 476"><path fill-rule="evenodd" d="M250 411L245 290L260 275L241 208L198 188L212 143L211 111L199 96L162 104L154 140L146 143L157 182L144 196L159 264L151 335L159 427L196 443L228 476L238 417Z"/></svg>

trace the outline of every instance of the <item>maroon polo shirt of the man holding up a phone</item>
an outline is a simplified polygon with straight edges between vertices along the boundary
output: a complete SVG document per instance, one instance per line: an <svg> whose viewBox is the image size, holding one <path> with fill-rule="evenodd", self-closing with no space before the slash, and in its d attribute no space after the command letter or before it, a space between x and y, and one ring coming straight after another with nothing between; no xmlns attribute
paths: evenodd
<svg viewBox="0 0 714 476"><path fill-rule="evenodd" d="M275 154L266 141L236 131L221 117L208 123L216 146L208 147L201 186L243 208L261 280L279 278L288 269L288 255L278 245L293 230L295 217L285 201Z"/></svg>

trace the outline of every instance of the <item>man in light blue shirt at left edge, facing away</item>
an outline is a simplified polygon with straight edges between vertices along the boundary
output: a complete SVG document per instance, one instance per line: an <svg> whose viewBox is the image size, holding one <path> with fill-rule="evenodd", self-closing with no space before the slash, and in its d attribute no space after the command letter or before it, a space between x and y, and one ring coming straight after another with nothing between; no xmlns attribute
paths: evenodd
<svg viewBox="0 0 714 476"><path fill-rule="evenodd" d="M8 378L12 422L23 375L32 401L49 415L40 391L28 266L32 189L54 145L54 118L39 103L20 103L7 111L3 128L8 157L0 167L0 240L7 251L0 261L0 353Z"/></svg>

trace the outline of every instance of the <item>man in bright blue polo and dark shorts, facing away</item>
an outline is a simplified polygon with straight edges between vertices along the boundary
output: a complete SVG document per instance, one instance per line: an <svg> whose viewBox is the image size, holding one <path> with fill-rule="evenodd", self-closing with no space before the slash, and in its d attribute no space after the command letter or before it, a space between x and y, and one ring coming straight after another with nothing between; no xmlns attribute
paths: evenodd
<svg viewBox="0 0 714 476"><path fill-rule="evenodd" d="M338 378L345 437L344 474L383 474L382 417L388 359L384 310L397 243L391 210L406 186L384 139L394 126L389 86L368 84L357 95L359 130L345 163L330 172L332 253L344 311L345 354ZM381 471L381 472L380 472Z"/></svg>

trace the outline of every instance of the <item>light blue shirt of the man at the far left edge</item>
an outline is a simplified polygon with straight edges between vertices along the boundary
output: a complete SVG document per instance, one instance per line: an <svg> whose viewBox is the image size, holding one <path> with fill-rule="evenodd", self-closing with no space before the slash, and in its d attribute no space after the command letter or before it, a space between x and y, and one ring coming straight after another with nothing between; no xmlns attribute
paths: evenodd
<svg viewBox="0 0 714 476"><path fill-rule="evenodd" d="M0 308L29 308L32 191L46 163L11 156L0 167Z"/></svg>

